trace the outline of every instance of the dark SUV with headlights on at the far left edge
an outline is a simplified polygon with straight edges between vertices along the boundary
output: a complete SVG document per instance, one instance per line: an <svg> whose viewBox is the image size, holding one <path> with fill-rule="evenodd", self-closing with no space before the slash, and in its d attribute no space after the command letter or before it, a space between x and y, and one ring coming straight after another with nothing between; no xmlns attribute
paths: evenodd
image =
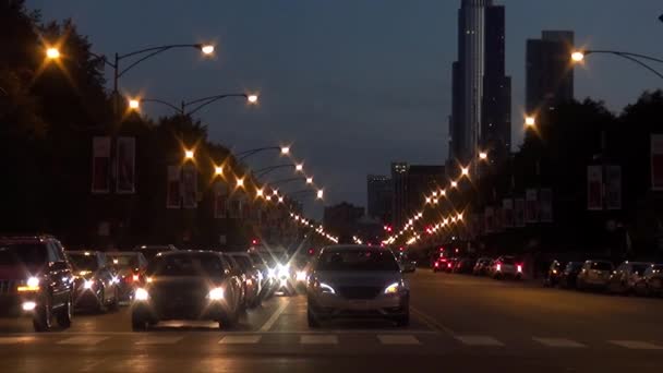
<svg viewBox="0 0 663 373"><path fill-rule="evenodd" d="M35 332L71 325L74 277L49 236L0 237L0 315L29 315Z"/></svg>

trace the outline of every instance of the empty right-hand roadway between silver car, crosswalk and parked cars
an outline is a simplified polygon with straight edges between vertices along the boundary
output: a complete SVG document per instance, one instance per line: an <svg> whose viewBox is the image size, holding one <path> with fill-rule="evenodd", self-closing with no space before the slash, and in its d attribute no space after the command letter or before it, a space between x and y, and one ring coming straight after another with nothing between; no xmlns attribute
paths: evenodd
<svg viewBox="0 0 663 373"><path fill-rule="evenodd" d="M660 340L663 301L420 270L412 309L449 334Z"/></svg>

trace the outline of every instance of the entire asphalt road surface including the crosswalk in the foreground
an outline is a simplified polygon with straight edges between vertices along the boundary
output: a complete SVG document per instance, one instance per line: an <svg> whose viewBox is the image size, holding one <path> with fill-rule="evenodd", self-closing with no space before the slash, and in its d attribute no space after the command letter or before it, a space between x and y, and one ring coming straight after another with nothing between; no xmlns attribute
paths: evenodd
<svg viewBox="0 0 663 373"><path fill-rule="evenodd" d="M2 372L660 372L663 300L418 270L412 322L339 321L311 330L303 297L276 297L233 329L159 324L133 333L129 309L32 333L0 320Z"/></svg>

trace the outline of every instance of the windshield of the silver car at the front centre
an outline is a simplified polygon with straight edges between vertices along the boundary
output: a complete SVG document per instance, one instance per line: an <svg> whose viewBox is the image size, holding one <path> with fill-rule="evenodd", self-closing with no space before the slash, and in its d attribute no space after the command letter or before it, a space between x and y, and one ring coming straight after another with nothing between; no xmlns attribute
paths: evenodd
<svg viewBox="0 0 663 373"><path fill-rule="evenodd" d="M399 270L394 254L386 250L339 250L323 252L317 270Z"/></svg>

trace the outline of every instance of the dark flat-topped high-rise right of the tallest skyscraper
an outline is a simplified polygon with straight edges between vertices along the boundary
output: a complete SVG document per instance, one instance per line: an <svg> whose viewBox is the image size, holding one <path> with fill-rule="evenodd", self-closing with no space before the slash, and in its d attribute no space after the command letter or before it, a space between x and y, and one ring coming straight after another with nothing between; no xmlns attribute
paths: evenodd
<svg viewBox="0 0 663 373"><path fill-rule="evenodd" d="M526 110L554 109L574 99L574 69L570 64L574 32L544 31L541 39L527 40Z"/></svg>

